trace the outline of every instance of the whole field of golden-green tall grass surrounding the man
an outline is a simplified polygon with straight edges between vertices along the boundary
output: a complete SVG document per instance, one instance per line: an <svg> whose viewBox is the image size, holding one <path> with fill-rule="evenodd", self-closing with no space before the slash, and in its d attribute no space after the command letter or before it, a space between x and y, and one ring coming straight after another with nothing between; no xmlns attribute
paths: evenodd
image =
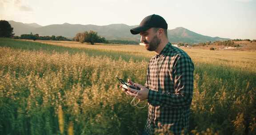
<svg viewBox="0 0 256 135"><path fill-rule="evenodd" d="M46 43L0 38L0 135L141 134L147 107L131 106L115 76L144 84L153 52ZM256 52L185 51L195 64L191 132L255 135Z"/></svg>

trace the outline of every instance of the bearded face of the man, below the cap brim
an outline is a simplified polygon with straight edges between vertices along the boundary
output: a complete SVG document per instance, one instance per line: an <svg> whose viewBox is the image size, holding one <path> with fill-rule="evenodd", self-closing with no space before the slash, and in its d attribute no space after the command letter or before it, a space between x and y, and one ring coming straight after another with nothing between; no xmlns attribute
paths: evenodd
<svg viewBox="0 0 256 135"><path fill-rule="evenodd" d="M140 32L140 42L145 44L148 51L155 51L160 44L160 39L157 38L157 32L154 28L150 28L145 32Z"/></svg>

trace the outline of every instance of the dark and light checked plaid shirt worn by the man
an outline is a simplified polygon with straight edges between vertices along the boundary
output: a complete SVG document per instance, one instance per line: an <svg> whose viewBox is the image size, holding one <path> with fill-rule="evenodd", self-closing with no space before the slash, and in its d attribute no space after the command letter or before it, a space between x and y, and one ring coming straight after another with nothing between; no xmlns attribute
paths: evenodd
<svg viewBox="0 0 256 135"><path fill-rule="evenodd" d="M194 64L183 50L168 43L148 64L148 119L145 131L155 128L180 133L188 128L193 95Z"/></svg>

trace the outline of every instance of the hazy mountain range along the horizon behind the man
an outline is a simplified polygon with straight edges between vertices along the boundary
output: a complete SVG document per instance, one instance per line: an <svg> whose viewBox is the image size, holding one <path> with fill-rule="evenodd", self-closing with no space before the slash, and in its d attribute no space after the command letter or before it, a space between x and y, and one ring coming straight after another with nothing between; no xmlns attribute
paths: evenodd
<svg viewBox="0 0 256 135"><path fill-rule="evenodd" d="M40 36L64 36L67 38L73 38L76 33L84 31L95 31L98 32L98 35L105 37L107 40L140 40L140 35L132 35L130 29L136 27L128 26L126 24L110 24L104 26L97 25L81 25L81 24L52 24L47 26L40 26L39 24L24 24L15 21L8 21L12 27L16 36L21 34L39 34ZM189 31L186 28L178 27L172 30L168 30L168 37L170 42L183 42L183 43L200 43L207 41L216 41L216 40L230 40L220 37L210 37L200 35L198 33Z"/></svg>

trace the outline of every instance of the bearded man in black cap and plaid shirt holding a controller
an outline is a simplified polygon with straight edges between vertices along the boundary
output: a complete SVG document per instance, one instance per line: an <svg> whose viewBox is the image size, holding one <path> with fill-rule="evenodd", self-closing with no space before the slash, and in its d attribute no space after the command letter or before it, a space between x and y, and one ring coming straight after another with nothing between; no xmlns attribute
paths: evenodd
<svg viewBox="0 0 256 135"><path fill-rule="evenodd" d="M145 86L128 82L140 90L123 89L140 100L148 99L148 119L144 135L152 135L155 129L180 134L188 129L188 118L193 95L194 64L183 50L168 41L168 25L163 17L150 15L140 26L131 29L140 34L140 41L148 51L155 51L148 64Z"/></svg>

